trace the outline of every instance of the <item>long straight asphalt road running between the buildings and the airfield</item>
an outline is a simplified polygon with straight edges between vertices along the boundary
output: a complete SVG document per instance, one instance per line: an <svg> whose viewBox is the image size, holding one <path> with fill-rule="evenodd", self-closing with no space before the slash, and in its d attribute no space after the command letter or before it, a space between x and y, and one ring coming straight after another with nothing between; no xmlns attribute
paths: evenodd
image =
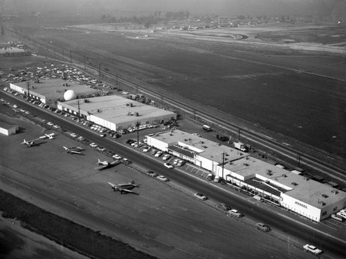
<svg viewBox="0 0 346 259"><path fill-rule="evenodd" d="M242 211L242 213L246 215L246 218L249 218L254 222L264 222L274 231L279 231L282 235L286 234L288 240L291 239L296 240L297 242L315 244L320 249L327 252L328 255L336 258L344 258L346 255L345 249L343 248L345 247L345 241L343 242L343 240L333 238L326 232L316 231L314 227L318 228L318 224L308 222L307 220L300 220L300 218L295 218L295 216L289 217L292 218L292 220L283 217L281 214L273 213L273 211L265 209L264 207L259 207L254 203L248 202L248 198L246 197L239 198L239 195L233 195L221 189L212 187L208 182L196 180L191 175L181 173L181 171L177 169L165 169L162 160L155 160L148 158L145 155L140 155L138 154L138 151L134 150L134 148L118 143L118 140L102 138L95 132L88 131L85 127L71 121L71 119L66 119L65 117L51 113L50 111L34 106L33 104L29 104L24 99L18 99L10 94L3 93L2 90L0 96L7 99L11 104L19 104L20 108L30 111L34 115L37 115L37 117L58 124L67 131L71 131L77 135L82 135L91 142L104 146L104 148L107 148L109 151L116 152L122 157L127 157L140 167L167 176L167 178L170 178L170 180L179 184L182 188L199 191L212 200L226 203L230 207ZM123 137L127 138L127 135ZM131 138L136 139L136 133L132 134ZM298 220L304 224L300 224Z"/></svg>

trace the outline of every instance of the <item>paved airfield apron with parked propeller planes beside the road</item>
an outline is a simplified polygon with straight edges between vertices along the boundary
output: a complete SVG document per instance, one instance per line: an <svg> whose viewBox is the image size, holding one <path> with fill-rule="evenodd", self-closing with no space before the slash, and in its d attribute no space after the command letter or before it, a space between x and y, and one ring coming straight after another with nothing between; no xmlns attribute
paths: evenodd
<svg viewBox="0 0 346 259"><path fill-rule="evenodd" d="M212 200L194 200L189 190L176 191L171 184L148 178L124 165L95 171L97 158L107 157L86 146L85 155L67 154L62 145L80 144L63 135L26 148L18 143L24 137L33 139L42 135L44 129L25 119L8 120L19 124L21 133L0 136L3 146L0 187L38 207L159 258L306 256L302 250L287 246L242 220L226 217L212 208ZM138 195L118 195L107 184L132 179L140 184L134 190ZM69 229L61 231L64 236ZM90 241L87 246L93 245L93 240Z"/></svg>

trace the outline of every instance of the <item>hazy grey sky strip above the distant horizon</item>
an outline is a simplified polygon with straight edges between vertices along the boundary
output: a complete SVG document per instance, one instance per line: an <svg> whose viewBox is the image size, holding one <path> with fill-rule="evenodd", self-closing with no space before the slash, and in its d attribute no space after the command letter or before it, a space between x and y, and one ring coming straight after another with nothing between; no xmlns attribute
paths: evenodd
<svg viewBox="0 0 346 259"><path fill-rule="evenodd" d="M346 0L0 0L0 12L152 13L189 10L192 15L329 15Z"/></svg>

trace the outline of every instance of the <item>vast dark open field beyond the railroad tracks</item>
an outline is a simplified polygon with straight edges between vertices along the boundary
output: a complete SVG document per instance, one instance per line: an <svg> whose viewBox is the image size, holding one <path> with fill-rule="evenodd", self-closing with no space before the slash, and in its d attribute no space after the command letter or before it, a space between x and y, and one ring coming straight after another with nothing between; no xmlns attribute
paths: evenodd
<svg viewBox="0 0 346 259"><path fill-rule="evenodd" d="M96 68L157 89L163 97L191 99L204 108L244 119L273 137L284 135L344 160L345 58L298 52L280 42L295 35L295 43L302 43L307 30L311 32L307 41L319 40L311 35L323 35L331 27L316 31L316 26L275 25L150 33L102 24L33 29L39 25L43 26L26 27L23 34L55 52L64 50L66 60L70 53L81 62L85 58ZM338 29L334 35L320 36L315 44L342 43L341 28L334 29ZM149 37L136 39L144 34ZM238 41L226 37L245 34L248 38ZM333 41L327 41L327 36Z"/></svg>

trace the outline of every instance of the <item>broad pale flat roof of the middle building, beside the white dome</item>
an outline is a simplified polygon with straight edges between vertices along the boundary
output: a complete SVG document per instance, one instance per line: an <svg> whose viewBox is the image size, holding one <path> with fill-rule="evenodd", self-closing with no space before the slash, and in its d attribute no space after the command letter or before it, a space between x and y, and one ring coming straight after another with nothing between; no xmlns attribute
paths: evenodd
<svg viewBox="0 0 346 259"><path fill-rule="evenodd" d="M78 108L75 100L63 102L62 106ZM80 100L80 110L89 115L95 115L109 122L133 122L136 117L143 119L161 116L174 116L175 113L165 111L154 106L142 104L118 95L92 97Z"/></svg>

